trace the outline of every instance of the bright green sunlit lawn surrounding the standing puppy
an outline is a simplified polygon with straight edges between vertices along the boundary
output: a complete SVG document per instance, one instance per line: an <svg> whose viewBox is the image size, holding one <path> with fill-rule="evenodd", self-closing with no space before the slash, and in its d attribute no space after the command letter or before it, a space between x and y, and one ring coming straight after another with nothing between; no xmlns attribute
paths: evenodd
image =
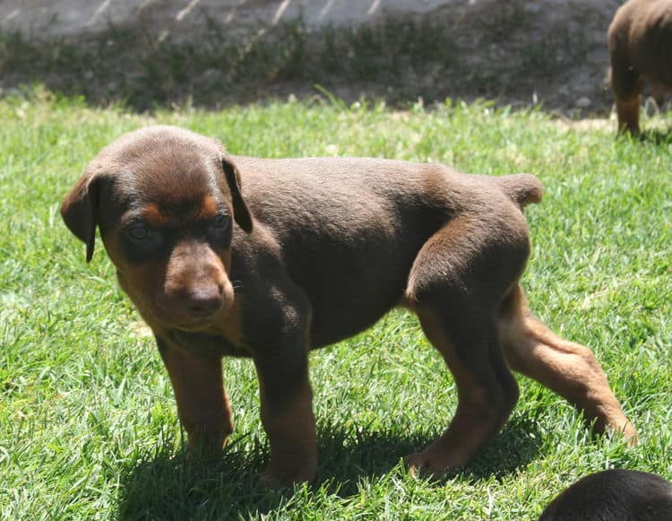
<svg viewBox="0 0 672 521"><path fill-rule="evenodd" d="M0 101L0 120L0 518L524 520L607 467L672 478L669 134L616 140L613 129L484 103L399 112L294 102L149 117L43 91ZM222 459L186 457L153 341L103 249L86 265L58 214L100 147L156 122L218 136L236 153L537 174L546 195L527 212L531 307L595 351L641 444L591 439L572 407L520 378L511 420L473 463L438 482L413 480L400 457L444 429L456 395L416 320L394 312L311 356L314 486L258 482L267 443L247 360L225 363L237 430Z"/></svg>

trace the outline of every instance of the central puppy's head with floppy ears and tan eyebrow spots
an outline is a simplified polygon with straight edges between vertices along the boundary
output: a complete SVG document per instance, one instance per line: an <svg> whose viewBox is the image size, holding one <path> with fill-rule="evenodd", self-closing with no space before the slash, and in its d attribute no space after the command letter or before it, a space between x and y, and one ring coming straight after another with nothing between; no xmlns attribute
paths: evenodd
<svg viewBox="0 0 672 521"><path fill-rule="evenodd" d="M219 142L171 126L124 135L90 162L61 214L87 262L99 227L150 326L203 329L233 305L233 221L250 232L253 220Z"/></svg>

